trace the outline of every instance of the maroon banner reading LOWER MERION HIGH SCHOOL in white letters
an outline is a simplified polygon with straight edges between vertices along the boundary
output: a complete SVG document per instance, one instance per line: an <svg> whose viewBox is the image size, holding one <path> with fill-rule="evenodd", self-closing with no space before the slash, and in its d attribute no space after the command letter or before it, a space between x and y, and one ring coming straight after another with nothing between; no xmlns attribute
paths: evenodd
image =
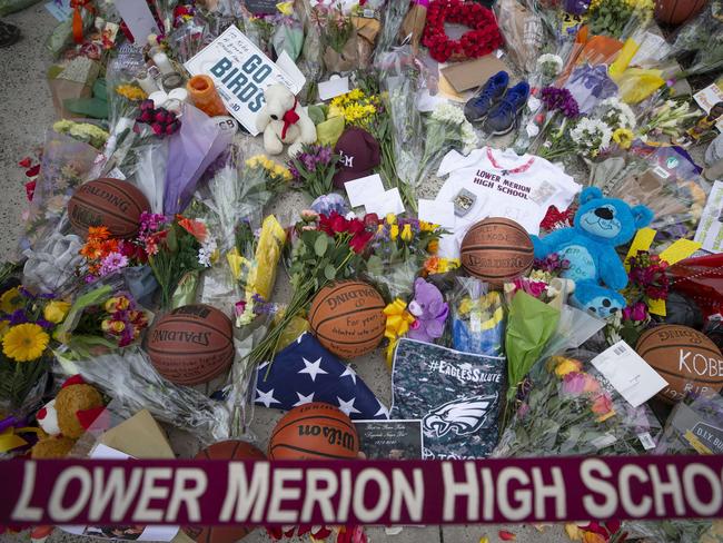
<svg viewBox="0 0 723 543"><path fill-rule="evenodd" d="M474 524L723 516L723 456L0 462L0 524Z"/></svg>

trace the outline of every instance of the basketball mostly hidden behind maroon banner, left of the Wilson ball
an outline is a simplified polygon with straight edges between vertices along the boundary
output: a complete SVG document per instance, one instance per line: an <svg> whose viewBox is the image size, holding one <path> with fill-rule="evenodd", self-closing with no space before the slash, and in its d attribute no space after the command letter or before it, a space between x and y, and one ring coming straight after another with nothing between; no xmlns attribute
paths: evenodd
<svg viewBox="0 0 723 543"><path fill-rule="evenodd" d="M194 460L266 460L266 455L250 443L228 440L200 451ZM246 526L184 526L186 535L197 543L234 543L246 537L252 529Z"/></svg>

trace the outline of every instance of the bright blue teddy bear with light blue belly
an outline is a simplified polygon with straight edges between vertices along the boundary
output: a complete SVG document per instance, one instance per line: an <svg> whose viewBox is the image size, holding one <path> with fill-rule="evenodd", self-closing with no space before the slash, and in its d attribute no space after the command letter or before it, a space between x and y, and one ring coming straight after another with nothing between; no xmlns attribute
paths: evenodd
<svg viewBox="0 0 723 543"><path fill-rule="evenodd" d="M615 247L628 243L652 220L653 211L647 207L630 207L623 200L604 198L597 187L587 187L580 195L572 228L555 230L542 239L531 236L535 258L557 253L570 260L563 277L575 282L571 303L606 318L625 307L625 298L617 290L627 286L627 273Z"/></svg>

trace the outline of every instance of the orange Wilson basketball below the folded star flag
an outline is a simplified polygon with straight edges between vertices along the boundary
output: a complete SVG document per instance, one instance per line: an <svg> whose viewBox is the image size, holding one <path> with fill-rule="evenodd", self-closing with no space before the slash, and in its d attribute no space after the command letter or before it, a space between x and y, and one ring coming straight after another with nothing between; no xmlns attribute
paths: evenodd
<svg viewBox="0 0 723 543"><path fill-rule="evenodd" d="M359 437L351 419L323 402L299 405L276 424L269 460L356 458Z"/></svg>

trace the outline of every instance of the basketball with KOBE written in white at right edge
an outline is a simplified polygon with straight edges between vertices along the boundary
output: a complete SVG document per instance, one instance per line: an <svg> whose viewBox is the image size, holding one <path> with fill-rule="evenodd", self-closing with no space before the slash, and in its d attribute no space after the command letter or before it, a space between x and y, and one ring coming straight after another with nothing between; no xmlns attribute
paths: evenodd
<svg viewBox="0 0 723 543"><path fill-rule="evenodd" d="M696 329L665 324L645 332L635 351L668 386L657 396L668 404L689 392L711 394L723 387L723 356L715 344Z"/></svg>

